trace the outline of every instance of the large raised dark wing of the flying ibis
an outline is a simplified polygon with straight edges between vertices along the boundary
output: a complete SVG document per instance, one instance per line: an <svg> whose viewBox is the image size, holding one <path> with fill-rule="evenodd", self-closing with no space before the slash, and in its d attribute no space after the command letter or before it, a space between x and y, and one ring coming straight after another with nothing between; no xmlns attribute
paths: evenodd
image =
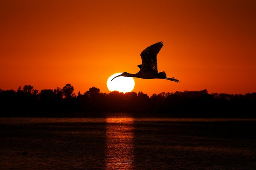
<svg viewBox="0 0 256 170"><path fill-rule="evenodd" d="M163 47L163 42L157 42L153 45L148 46L140 54L142 59L142 71L157 71L157 54Z"/></svg>

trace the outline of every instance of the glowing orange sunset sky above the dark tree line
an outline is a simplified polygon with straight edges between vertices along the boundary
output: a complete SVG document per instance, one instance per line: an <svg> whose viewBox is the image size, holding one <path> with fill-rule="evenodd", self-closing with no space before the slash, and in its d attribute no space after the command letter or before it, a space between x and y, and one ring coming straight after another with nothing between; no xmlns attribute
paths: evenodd
<svg viewBox="0 0 256 170"><path fill-rule="evenodd" d="M135 80L134 92L256 91L254 0L1 0L0 88L70 83L109 93L108 77L137 73L140 53L163 41L164 79Z"/></svg>

